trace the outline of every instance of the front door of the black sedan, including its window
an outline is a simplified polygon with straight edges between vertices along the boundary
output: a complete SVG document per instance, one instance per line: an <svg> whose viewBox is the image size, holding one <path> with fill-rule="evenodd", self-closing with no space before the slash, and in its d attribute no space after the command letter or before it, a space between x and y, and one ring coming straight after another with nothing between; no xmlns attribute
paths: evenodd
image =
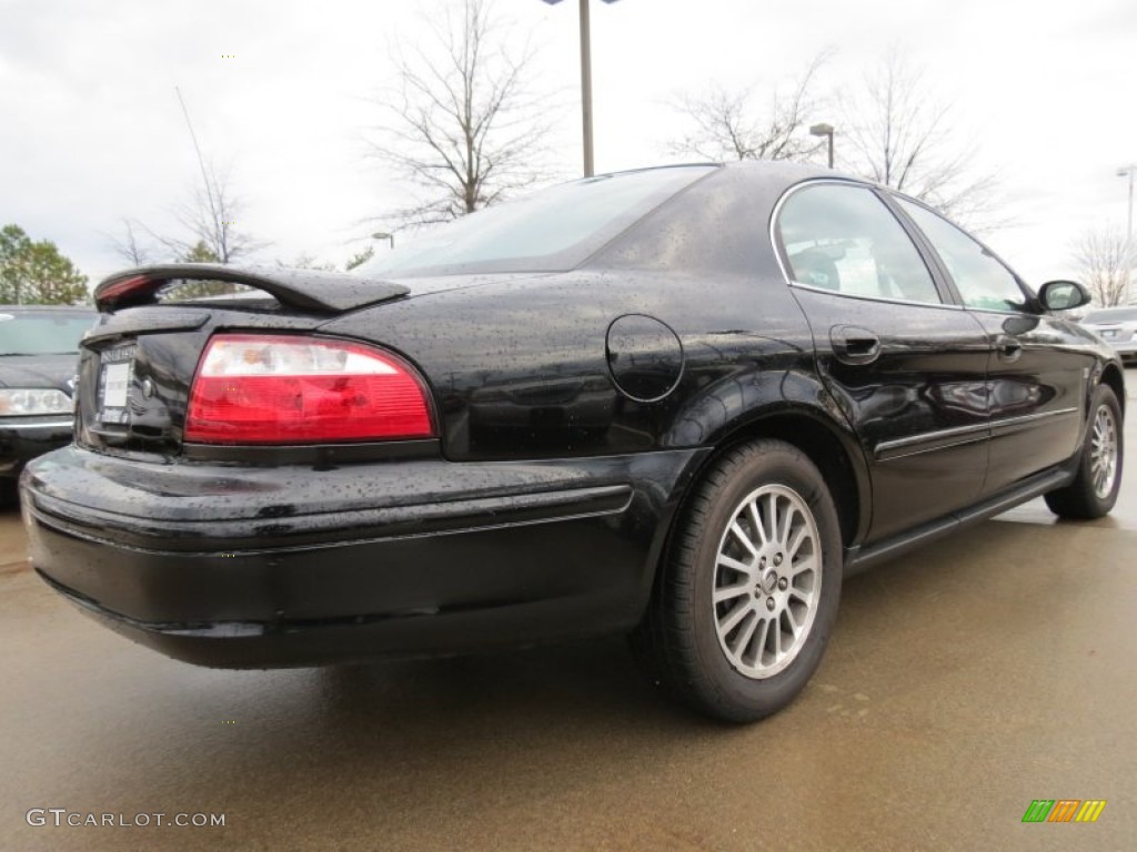
<svg viewBox="0 0 1137 852"><path fill-rule="evenodd" d="M1069 459L1087 417L1094 365L1084 337L1069 320L1037 308L1019 277L982 243L922 204L896 201L990 342L991 456L984 494Z"/></svg>

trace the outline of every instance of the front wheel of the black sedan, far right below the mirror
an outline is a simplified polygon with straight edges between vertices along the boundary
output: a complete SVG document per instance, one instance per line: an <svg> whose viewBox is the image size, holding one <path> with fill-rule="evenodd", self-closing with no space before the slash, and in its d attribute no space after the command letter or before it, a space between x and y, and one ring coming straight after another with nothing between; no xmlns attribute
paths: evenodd
<svg viewBox="0 0 1137 852"><path fill-rule="evenodd" d="M1109 385L1098 385L1089 428L1079 452L1078 473L1069 485L1046 494L1046 506L1060 518L1093 520L1109 515L1121 488L1124 445L1121 406Z"/></svg>

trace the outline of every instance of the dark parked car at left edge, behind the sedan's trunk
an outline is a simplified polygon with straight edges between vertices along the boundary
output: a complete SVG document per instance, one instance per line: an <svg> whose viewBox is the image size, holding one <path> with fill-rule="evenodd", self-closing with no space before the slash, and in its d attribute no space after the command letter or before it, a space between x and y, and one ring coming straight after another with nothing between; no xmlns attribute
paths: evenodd
<svg viewBox="0 0 1137 852"><path fill-rule="evenodd" d="M0 506L16 500L24 463L72 440L78 342L86 308L0 304Z"/></svg>

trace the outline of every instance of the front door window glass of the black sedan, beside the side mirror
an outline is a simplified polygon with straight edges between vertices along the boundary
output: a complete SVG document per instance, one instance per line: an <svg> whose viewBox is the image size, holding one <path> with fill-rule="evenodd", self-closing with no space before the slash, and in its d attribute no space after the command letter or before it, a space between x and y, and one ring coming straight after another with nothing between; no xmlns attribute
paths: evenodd
<svg viewBox="0 0 1137 852"><path fill-rule="evenodd" d="M896 200L939 253L965 306L1005 311L1027 307L1018 278L985 245L931 210L907 199Z"/></svg>

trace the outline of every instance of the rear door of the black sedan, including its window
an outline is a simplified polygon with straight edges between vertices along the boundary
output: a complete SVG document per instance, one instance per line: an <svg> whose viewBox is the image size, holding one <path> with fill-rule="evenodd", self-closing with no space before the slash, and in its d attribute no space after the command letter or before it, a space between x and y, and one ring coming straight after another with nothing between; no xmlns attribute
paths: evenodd
<svg viewBox="0 0 1137 852"><path fill-rule="evenodd" d="M819 373L869 461L866 542L974 502L987 468L982 325L948 303L871 187L803 184L780 202L773 233Z"/></svg>

